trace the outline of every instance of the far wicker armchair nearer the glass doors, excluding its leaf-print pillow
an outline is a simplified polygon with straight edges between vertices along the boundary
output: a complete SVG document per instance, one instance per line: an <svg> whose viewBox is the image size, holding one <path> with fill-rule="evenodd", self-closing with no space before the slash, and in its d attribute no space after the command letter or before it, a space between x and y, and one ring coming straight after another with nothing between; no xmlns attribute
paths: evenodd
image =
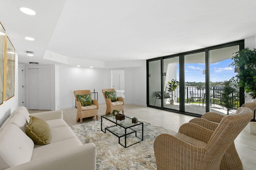
<svg viewBox="0 0 256 170"><path fill-rule="evenodd" d="M104 99L106 101L106 106L107 106L106 114L112 113L113 110L118 110L118 111L122 111L122 113L124 115L124 98L118 97L117 102L111 102L110 99L106 98L106 93L105 92L114 92L114 91L115 91L114 88L102 89L102 94L104 96Z"/></svg>

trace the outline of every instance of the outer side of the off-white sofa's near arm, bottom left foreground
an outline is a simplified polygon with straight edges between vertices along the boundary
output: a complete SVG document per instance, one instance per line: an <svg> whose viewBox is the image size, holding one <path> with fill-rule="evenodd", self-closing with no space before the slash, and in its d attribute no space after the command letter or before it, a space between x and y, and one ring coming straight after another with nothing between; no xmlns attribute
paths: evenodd
<svg viewBox="0 0 256 170"><path fill-rule="evenodd" d="M6 170L96 170L96 146L88 143Z"/></svg>

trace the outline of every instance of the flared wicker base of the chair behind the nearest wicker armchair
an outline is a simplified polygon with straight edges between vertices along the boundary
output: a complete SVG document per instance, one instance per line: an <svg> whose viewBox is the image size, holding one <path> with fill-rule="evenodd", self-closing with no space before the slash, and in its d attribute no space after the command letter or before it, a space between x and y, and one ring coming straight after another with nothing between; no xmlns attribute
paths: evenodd
<svg viewBox="0 0 256 170"><path fill-rule="evenodd" d="M230 145L220 162L220 170L242 170L240 160L234 142Z"/></svg>

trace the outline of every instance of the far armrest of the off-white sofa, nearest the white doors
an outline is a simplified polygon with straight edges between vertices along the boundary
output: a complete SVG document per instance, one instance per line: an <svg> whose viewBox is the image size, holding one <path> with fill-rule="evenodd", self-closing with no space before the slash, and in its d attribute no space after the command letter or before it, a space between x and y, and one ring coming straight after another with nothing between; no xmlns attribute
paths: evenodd
<svg viewBox="0 0 256 170"><path fill-rule="evenodd" d="M40 113L31 113L30 115L34 117L38 117L43 120L52 120L52 119L63 119L63 111L56 110L56 111L46 111Z"/></svg>

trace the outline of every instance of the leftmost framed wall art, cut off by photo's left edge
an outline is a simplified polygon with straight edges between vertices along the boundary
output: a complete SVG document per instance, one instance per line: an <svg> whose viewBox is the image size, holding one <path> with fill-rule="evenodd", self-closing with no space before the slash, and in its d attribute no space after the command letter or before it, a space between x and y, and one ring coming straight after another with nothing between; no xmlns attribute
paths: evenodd
<svg viewBox="0 0 256 170"><path fill-rule="evenodd" d="M0 104L4 101L4 43L5 30L0 23Z"/></svg>

